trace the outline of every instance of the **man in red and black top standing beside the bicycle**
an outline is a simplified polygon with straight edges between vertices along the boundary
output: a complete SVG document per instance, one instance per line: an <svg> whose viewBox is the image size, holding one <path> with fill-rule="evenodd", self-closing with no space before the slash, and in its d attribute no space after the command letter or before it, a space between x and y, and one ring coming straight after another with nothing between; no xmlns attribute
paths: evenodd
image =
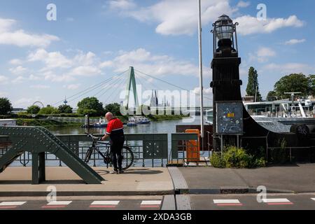
<svg viewBox="0 0 315 224"><path fill-rule="evenodd" d="M106 113L105 118L109 123L107 124L106 134L101 138L101 141L104 141L107 137L111 139L111 161L114 167L111 174L123 174L122 150L125 142L123 123L120 119L114 118L113 114L110 112Z"/></svg>

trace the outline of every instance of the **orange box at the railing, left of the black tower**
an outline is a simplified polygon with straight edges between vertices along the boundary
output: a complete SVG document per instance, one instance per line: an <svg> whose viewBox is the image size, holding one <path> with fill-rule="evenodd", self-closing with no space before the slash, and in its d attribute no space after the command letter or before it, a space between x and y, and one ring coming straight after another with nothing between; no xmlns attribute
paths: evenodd
<svg viewBox="0 0 315 224"><path fill-rule="evenodd" d="M200 162L200 130L188 129L185 133L195 133L198 135L198 140L189 140L186 143L187 162Z"/></svg>

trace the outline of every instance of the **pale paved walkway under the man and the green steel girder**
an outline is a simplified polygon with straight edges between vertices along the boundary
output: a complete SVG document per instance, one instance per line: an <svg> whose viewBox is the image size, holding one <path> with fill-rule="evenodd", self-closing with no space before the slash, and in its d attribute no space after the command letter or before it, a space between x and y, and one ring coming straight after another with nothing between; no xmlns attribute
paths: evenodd
<svg viewBox="0 0 315 224"><path fill-rule="evenodd" d="M46 181L31 185L31 167L8 167L0 174L0 196L45 196L54 186L59 196L72 195L173 195L172 178L167 168L130 168L124 174L109 174L111 169L95 168L105 181L85 184L68 167L47 167Z"/></svg>

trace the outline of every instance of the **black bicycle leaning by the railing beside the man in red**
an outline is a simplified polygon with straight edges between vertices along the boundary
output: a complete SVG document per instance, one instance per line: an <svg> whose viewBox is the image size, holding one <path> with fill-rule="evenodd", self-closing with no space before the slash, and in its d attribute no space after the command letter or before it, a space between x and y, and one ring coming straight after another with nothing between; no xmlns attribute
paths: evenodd
<svg viewBox="0 0 315 224"><path fill-rule="evenodd" d="M85 134L87 135L87 137L90 137L92 139L92 146L90 146L90 148L87 150L87 153L84 158L84 162L88 163L90 161L93 151L96 151L104 159L104 163L106 164L106 167L109 168L109 165L112 164L111 155L109 152L109 148L111 144L100 141L101 138L94 137L93 134L89 134L89 133L85 133ZM99 151L99 148L97 148L97 144L108 146L106 147L106 152L102 153L101 151ZM122 169L125 170L132 166L134 162L134 153L132 153L132 150L129 147L123 146L122 154L123 154Z"/></svg>

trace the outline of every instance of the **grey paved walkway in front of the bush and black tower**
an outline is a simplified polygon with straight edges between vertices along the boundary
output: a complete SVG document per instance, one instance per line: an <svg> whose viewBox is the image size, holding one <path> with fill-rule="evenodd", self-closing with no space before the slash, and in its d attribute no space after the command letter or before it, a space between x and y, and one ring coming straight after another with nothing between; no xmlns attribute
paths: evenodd
<svg viewBox="0 0 315 224"><path fill-rule="evenodd" d="M179 171L190 194L257 193L258 186L265 186L268 193L315 192L315 164L259 169L181 167Z"/></svg>

